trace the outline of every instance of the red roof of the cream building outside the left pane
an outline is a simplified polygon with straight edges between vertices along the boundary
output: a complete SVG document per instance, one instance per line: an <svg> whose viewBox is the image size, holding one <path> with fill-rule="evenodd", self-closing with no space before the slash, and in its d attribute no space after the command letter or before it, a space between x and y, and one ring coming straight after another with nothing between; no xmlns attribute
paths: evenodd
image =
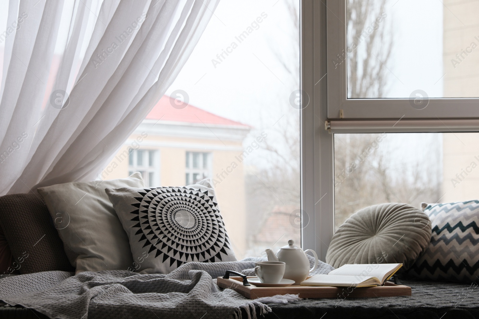
<svg viewBox="0 0 479 319"><path fill-rule="evenodd" d="M167 95L163 95L160 101L153 107L153 110L149 112L146 119L250 127L249 125L199 109L191 104L187 104L184 109L175 109L172 107L172 105L175 105L174 100Z"/></svg>

